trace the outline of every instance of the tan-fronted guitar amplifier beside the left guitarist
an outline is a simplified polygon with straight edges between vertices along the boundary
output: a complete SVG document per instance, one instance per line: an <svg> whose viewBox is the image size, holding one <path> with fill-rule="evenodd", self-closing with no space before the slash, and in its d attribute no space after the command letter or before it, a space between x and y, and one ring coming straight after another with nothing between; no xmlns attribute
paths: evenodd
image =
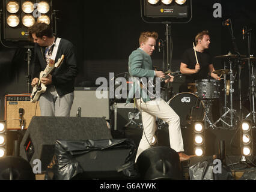
<svg viewBox="0 0 256 192"><path fill-rule="evenodd" d="M39 102L31 103L30 94L5 95L4 120L7 130L20 130L28 125L33 116L40 116Z"/></svg>

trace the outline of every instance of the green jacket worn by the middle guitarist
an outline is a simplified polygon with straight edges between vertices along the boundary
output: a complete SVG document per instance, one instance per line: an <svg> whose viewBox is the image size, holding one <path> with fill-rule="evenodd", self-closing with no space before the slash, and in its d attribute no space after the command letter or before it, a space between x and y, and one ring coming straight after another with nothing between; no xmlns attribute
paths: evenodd
<svg viewBox="0 0 256 192"><path fill-rule="evenodd" d="M133 86L129 89L126 103L130 103L136 91L140 90L141 92L141 87L139 86L138 80L136 80L135 77L154 77L151 57L142 49L138 48L130 54L128 65L130 77L132 77L133 81ZM137 96L138 95L136 95L136 98ZM140 94L140 96L144 102L150 101L148 96L144 97L144 94Z"/></svg>

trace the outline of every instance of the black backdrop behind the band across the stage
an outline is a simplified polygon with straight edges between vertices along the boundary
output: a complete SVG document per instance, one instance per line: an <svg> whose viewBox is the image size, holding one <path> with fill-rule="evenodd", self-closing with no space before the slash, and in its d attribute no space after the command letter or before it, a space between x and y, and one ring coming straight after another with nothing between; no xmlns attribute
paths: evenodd
<svg viewBox="0 0 256 192"><path fill-rule="evenodd" d="M208 29L213 56L234 53L231 36L227 27L222 26L225 19L233 23L234 35L239 51L247 55L247 41L242 40L242 27L252 28L252 54L255 53L255 19L253 1L237 0L193 0L193 17L186 24L171 24L173 43L171 69L177 70L180 58L192 46L197 32ZM213 17L213 4L222 5L222 17ZM1 2L2 5L2 2ZM149 24L141 19L139 0L129 1L82 1L53 0L53 9L59 10L57 34L75 44L77 50L79 75L76 86L94 86L97 77L106 77L109 72L119 74L127 71L127 60L132 50L138 47L142 31L157 31L159 38L165 39L165 25ZM0 44L0 119L4 119L4 95L28 92L26 83L27 63L25 49L10 49ZM154 65L162 65L162 53L153 55ZM223 68L223 62L213 60L216 69ZM90 82L88 82L90 81ZM243 94L246 95L248 67L242 72ZM86 82L86 83L82 83ZM236 90L237 92L237 90Z"/></svg>

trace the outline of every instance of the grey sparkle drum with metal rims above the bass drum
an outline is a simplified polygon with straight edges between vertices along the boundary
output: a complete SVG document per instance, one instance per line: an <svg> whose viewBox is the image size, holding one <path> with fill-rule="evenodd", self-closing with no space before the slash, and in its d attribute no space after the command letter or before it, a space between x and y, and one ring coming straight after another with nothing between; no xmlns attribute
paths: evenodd
<svg viewBox="0 0 256 192"><path fill-rule="evenodd" d="M215 99L219 98L219 81L215 79L197 80L196 85L198 95L201 99Z"/></svg>

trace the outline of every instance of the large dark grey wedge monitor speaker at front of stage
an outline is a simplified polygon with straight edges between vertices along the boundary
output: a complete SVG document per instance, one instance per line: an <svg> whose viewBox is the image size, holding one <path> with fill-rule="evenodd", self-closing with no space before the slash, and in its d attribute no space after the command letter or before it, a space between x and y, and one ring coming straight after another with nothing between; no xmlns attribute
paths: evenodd
<svg viewBox="0 0 256 192"><path fill-rule="evenodd" d="M112 139L105 118L34 116L20 143L20 156L31 166L41 161L44 171L52 160L56 140Z"/></svg>

